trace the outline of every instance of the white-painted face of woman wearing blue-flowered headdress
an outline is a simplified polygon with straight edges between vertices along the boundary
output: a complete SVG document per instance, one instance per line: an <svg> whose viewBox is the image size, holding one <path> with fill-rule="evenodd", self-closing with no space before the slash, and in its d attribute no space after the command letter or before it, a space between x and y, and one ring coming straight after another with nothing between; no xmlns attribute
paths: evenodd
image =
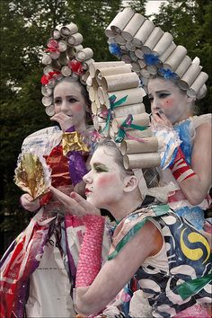
<svg viewBox="0 0 212 318"><path fill-rule="evenodd" d="M190 111L190 98L171 80L160 77L150 79L148 96L152 112L162 109L172 124L185 119Z"/></svg>

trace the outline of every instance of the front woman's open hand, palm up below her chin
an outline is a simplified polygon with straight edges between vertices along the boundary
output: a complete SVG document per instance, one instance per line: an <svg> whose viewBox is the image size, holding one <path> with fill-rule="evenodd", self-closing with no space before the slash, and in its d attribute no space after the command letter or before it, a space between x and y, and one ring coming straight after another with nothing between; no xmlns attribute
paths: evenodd
<svg viewBox="0 0 212 318"><path fill-rule="evenodd" d="M50 187L53 195L65 206L67 213L75 216L95 215L100 216L99 208L95 208L93 204L87 202L76 192L72 192L70 197L54 187Z"/></svg>

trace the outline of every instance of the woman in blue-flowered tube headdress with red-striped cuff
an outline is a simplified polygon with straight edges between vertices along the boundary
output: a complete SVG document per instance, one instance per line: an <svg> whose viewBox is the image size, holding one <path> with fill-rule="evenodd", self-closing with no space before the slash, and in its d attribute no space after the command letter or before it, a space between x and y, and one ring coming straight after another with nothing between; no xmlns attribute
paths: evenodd
<svg viewBox="0 0 212 318"><path fill-rule="evenodd" d="M208 227L204 210L211 204L211 114L194 114L195 100L207 93L208 75L199 57L191 60L172 34L130 8L119 13L105 33L112 54L137 64L135 71L150 98L151 126L159 143L162 185L170 187L170 207L198 229ZM120 45L117 34L135 48Z"/></svg>

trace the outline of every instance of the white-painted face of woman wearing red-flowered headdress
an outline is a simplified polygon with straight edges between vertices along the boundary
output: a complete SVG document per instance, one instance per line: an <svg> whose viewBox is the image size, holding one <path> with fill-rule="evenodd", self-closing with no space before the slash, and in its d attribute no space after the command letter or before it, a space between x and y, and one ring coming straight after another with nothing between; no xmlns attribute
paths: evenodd
<svg viewBox="0 0 212 318"><path fill-rule="evenodd" d="M62 81L54 90L55 112L65 113L70 118L70 126L79 126L85 122L86 103L81 87L75 82Z"/></svg>

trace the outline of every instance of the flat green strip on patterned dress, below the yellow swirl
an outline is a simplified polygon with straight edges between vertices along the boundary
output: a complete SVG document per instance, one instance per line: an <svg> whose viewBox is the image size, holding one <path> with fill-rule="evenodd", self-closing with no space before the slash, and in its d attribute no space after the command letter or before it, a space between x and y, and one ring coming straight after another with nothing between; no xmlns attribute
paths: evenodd
<svg viewBox="0 0 212 318"><path fill-rule="evenodd" d="M185 281L177 287L177 292L181 296L182 300L185 300L190 296L197 294L203 287L210 283L211 280L212 273L202 278L195 278L189 281Z"/></svg>

